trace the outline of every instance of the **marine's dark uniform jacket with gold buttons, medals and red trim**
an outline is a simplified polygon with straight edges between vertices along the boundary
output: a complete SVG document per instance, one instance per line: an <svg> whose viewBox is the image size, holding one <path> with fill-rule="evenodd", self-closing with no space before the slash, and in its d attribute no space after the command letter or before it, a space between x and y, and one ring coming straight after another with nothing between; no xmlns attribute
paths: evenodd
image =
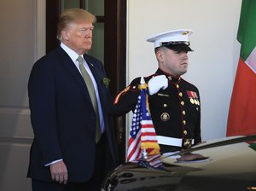
<svg viewBox="0 0 256 191"><path fill-rule="evenodd" d="M153 96L148 96L148 104L154 129L158 136L195 139L195 144L201 142L201 102L199 90L183 78L174 78L160 68L151 76L145 77L145 82L154 76L166 75L168 87ZM120 116L134 111L141 78L135 78L129 86L116 96L111 109L111 115ZM170 152L170 147L160 146L161 152ZM175 147L174 147L175 148Z"/></svg>

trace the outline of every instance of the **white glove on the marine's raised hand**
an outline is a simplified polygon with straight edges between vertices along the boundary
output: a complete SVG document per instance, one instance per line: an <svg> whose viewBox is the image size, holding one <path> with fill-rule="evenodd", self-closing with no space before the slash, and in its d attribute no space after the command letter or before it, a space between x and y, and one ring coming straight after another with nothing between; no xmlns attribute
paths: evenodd
<svg viewBox="0 0 256 191"><path fill-rule="evenodd" d="M166 90L168 87L168 79L165 75L155 76L148 81L148 92L152 96L160 89Z"/></svg>

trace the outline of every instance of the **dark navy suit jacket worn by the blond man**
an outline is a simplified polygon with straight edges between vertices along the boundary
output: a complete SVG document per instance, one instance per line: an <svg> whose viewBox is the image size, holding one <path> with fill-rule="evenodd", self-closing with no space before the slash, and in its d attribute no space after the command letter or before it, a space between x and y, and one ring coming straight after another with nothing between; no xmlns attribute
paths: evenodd
<svg viewBox="0 0 256 191"><path fill-rule="evenodd" d="M115 166L116 146L108 124L108 87L102 83L106 73L102 62L84 55L96 79L105 132L108 136L108 169ZM96 113L84 79L67 53L60 48L38 60L28 82L34 140L27 177L50 181L44 165L63 159L69 182L85 182L93 172L96 148Z"/></svg>

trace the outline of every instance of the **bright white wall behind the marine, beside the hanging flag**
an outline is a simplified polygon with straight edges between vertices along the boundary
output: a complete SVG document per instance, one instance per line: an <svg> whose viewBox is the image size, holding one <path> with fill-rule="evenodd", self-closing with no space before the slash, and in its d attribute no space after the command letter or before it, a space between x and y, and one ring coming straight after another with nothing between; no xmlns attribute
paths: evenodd
<svg viewBox="0 0 256 191"><path fill-rule="evenodd" d="M194 52L183 78L201 92L202 139L224 137L240 50L241 0L127 0L127 5L128 84L157 69L154 45L146 38L179 28L194 30L189 37Z"/></svg>

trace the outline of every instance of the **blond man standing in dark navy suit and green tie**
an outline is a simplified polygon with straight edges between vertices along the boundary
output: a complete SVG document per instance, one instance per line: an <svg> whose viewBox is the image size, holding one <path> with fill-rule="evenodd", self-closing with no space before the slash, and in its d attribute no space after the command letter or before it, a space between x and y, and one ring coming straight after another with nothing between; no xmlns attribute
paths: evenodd
<svg viewBox="0 0 256 191"><path fill-rule="evenodd" d="M108 78L102 62L86 55L95 21L84 9L64 11L57 33L61 46L32 67L28 96L34 140L27 173L32 190L100 190L116 165Z"/></svg>

